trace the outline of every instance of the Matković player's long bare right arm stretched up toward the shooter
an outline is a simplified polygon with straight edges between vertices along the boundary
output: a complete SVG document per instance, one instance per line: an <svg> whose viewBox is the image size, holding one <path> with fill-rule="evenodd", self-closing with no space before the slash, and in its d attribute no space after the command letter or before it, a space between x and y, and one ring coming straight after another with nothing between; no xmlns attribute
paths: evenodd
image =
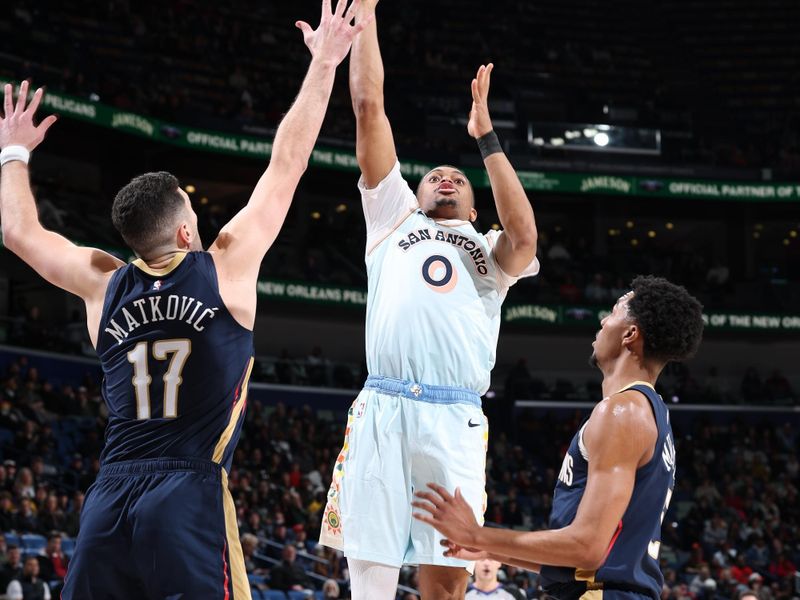
<svg viewBox="0 0 800 600"><path fill-rule="evenodd" d="M335 11L331 10L330 0L323 0L316 30L308 23L297 22L312 55L308 73L297 99L278 127L269 166L249 202L222 228L209 248L214 254L221 287L227 289L229 283L245 286L248 295L252 292L252 302L248 303L253 310L261 260L275 241L300 177L308 167L333 89L336 67L366 23L351 25L359 3L360 0L353 0L345 13L347 0L339 0Z"/></svg>

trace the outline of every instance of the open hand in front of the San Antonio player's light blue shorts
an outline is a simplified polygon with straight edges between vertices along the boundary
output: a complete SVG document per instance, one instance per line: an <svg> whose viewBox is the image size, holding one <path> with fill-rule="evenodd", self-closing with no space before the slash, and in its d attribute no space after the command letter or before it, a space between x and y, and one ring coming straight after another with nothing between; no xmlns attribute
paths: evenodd
<svg viewBox="0 0 800 600"><path fill-rule="evenodd" d="M475 535L480 529L472 508L456 488L453 495L442 486L429 483L431 491L414 494L418 500L411 503L423 512L414 513L414 518L435 527L451 543L464 548L473 548Z"/></svg>

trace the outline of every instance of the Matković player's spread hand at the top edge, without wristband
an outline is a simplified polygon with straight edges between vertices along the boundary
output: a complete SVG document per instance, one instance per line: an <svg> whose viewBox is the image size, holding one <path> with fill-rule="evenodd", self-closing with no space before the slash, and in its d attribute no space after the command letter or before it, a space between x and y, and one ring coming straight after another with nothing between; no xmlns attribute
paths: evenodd
<svg viewBox="0 0 800 600"><path fill-rule="evenodd" d="M353 24L361 0L353 0L347 8L347 0L336 3L336 11L331 12L331 0L322 0L322 16L319 27L312 29L305 21L295 25L303 32L303 41L311 51L311 56L338 65L347 56L355 37L370 24L374 15ZM347 8L347 12L345 12Z"/></svg>

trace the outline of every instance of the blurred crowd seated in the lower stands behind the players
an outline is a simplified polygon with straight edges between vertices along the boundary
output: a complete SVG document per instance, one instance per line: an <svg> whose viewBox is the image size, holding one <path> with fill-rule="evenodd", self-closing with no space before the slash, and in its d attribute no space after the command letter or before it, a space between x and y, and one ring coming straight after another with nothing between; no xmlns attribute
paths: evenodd
<svg viewBox="0 0 800 600"><path fill-rule="evenodd" d="M57 587L68 562L62 545L74 544L83 493L99 469L99 387L78 375L54 389L23 356L0 377L0 394L0 588L19 578ZM558 465L585 415L539 410L510 419L491 400L485 406L492 423L486 519L544 528ZM663 600L738 598L746 590L757 600L798 596L798 424L762 418L673 419L678 483L664 520ZM324 597L347 597L346 561L316 544L343 427L343 412L322 418L308 406L249 403L229 484L255 588L325 586ZM23 554L28 533L44 539L37 552ZM414 589L416 577L404 569L401 585ZM539 596L534 574L504 567L500 577L527 598Z"/></svg>

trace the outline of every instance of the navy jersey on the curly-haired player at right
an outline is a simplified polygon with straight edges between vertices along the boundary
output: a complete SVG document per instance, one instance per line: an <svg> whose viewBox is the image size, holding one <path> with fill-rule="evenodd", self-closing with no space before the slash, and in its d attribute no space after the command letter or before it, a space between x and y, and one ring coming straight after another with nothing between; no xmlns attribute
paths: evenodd
<svg viewBox="0 0 800 600"><path fill-rule="evenodd" d="M597 571L542 566L542 587L551 596L568 600L579 598L587 590L617 590L660 598L664 581L658 566L661 522L675 486L675 444L669 411L661 396L644 382L635 382L621 391L625 390L641 392L653 408L658 427L653 458L636 471L628 508ZM586 489L591 456L587 456L583 444L585 427L584 423L564 457L553 495L551 529L572 523Z"/></svg>

